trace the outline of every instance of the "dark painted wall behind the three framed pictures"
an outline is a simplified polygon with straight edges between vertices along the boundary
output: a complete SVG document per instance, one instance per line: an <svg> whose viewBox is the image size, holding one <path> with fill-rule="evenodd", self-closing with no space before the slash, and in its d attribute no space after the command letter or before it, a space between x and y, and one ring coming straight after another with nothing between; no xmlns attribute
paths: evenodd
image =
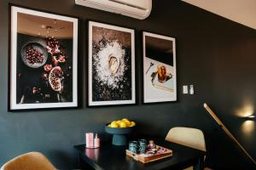
<svg viewBox="0 0 256 170"><path fill-rule="evenodd" d="M248 152L256 157L256 124L239 116L256 105L256 31L180 1L153 1L152 14L135 20L74 4L74 0L2 0L0 2L0 165L24 152L44 152L56 167L75 167L74 144L84 132L103 133L103 125L128 117L137 133L166 135L170 127L198 127L206 134L210 167L250 169L253 165L221 131L203 108L207 102ZM78 16L80 22L79 99L73 110L27 111L8 109L8 3ZM177 38L177 102L143 105L142 48L137 33L137 105L87 108L85 73L86 22L99 20ZM183 84L194 84L195 95L183 95ZM253 109L252 109L253 110Z"/></svg>

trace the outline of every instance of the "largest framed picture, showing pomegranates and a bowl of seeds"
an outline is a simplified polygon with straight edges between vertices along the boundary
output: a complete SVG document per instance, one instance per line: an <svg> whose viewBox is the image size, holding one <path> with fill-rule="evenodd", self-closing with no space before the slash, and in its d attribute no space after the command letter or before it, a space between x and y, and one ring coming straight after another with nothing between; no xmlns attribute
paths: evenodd
<svg viewBox="0 0 256 170"><path fill-rule="evenodd" d="M77 107L79 19L9 8L9 111Z"/></svg>

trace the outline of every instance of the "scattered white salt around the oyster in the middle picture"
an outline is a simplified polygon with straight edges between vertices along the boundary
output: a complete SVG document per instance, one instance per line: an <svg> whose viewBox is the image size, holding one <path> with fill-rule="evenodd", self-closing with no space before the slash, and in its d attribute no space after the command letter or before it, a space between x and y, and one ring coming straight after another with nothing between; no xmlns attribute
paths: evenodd
<svg viewBox="0 0 256 170"><path fill-rule="evenodd" d="M118 62L118 69L114 74L109 65L111 56L116 58ZM118 82L123 81L125 73L125 49L122 48L121 44L117 40L107 42L105 47L94 55L94 59L97 81L101 82L102 85L107 85L108 88L122 88L118 85Z"/></svg>

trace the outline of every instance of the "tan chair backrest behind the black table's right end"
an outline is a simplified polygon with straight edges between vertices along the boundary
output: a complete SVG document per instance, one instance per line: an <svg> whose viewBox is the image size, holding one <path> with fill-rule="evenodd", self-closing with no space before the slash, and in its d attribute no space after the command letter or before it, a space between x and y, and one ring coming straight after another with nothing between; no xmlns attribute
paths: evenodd
<svg viewBox="0 0 256 170"><path fill-rule="evenodd" d="M172 127L166 135L166 140L197 150L207 151L204 133L197 128Z"/></svg>

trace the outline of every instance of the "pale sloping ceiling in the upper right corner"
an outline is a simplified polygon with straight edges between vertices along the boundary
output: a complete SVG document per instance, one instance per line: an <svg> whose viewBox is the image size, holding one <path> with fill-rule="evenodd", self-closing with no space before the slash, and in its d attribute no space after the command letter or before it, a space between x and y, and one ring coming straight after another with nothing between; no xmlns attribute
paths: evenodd
<svg viewBox="0 0 256 170"><path fill-rule="evenodd" d="M256 0L183 0L256 30Z"/></svg>

